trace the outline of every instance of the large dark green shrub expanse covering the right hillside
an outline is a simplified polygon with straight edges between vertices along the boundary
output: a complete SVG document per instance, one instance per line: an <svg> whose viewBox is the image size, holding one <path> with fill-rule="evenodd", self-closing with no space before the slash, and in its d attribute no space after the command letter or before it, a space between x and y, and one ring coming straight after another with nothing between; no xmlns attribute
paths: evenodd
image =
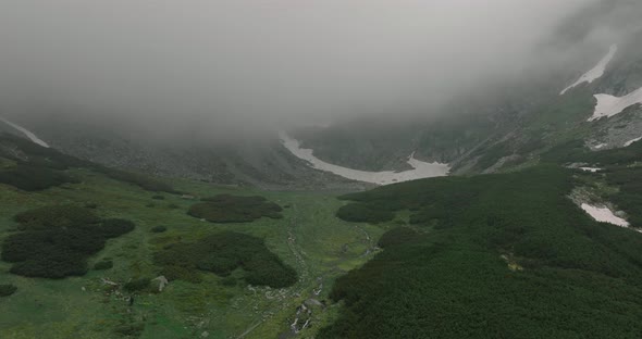
<svg viewBox="0 0 642 339"><path fill-rule="evenodd" d="M635 338L642 236L567 198L572 171L437 178L345 198L390 202L418 228L336 280L320 338Z"/></svg>

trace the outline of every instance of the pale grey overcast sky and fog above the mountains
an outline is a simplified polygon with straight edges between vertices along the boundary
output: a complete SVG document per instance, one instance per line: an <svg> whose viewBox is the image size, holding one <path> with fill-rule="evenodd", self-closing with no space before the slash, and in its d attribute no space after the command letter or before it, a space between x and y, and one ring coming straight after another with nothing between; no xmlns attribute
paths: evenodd
<svg viewBox="0 0 642 339"><path fill-rule="evenodd" d="M218 133L387 113L519 71L591 2L0 0L0 89Z"/></svg>

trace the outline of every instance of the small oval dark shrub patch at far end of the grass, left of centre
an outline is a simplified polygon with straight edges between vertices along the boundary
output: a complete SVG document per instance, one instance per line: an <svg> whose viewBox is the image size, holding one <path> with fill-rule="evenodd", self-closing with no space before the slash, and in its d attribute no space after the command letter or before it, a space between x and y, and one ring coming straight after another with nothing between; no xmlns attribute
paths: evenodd
<svg viewBox="0 0 642 339"><path fill-rule="evenodd" d="M220 194L201 200L203 202L192 205L187 214L212 223L247 223L262 216L283 217L281 206L263 197Z"/></svg>

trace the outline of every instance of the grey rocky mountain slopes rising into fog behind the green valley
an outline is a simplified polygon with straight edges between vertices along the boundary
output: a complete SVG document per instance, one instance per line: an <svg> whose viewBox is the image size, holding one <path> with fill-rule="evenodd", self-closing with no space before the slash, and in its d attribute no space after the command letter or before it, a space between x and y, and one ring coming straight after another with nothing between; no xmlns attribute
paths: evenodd
<svg viewBox="0 0 642 339"><path fill-rule="evenodd" d="M548 150L571 141L591 150L626 147L642 137L639 13L642 5L626 0L588 8L542 42L534 53L543 61L524 76L462 92L434 112L400 118L385 112L387 117L288 134L321 161L370 172L410 170L410 154L446 163L452 174L476 174L533 165ZM108 166L272 189L367 187L314 170L286 150L276 133L233 142L177 141L83 121L82 109L58 111L32 121L16 112L5 115L53 148Z"/></svg>

